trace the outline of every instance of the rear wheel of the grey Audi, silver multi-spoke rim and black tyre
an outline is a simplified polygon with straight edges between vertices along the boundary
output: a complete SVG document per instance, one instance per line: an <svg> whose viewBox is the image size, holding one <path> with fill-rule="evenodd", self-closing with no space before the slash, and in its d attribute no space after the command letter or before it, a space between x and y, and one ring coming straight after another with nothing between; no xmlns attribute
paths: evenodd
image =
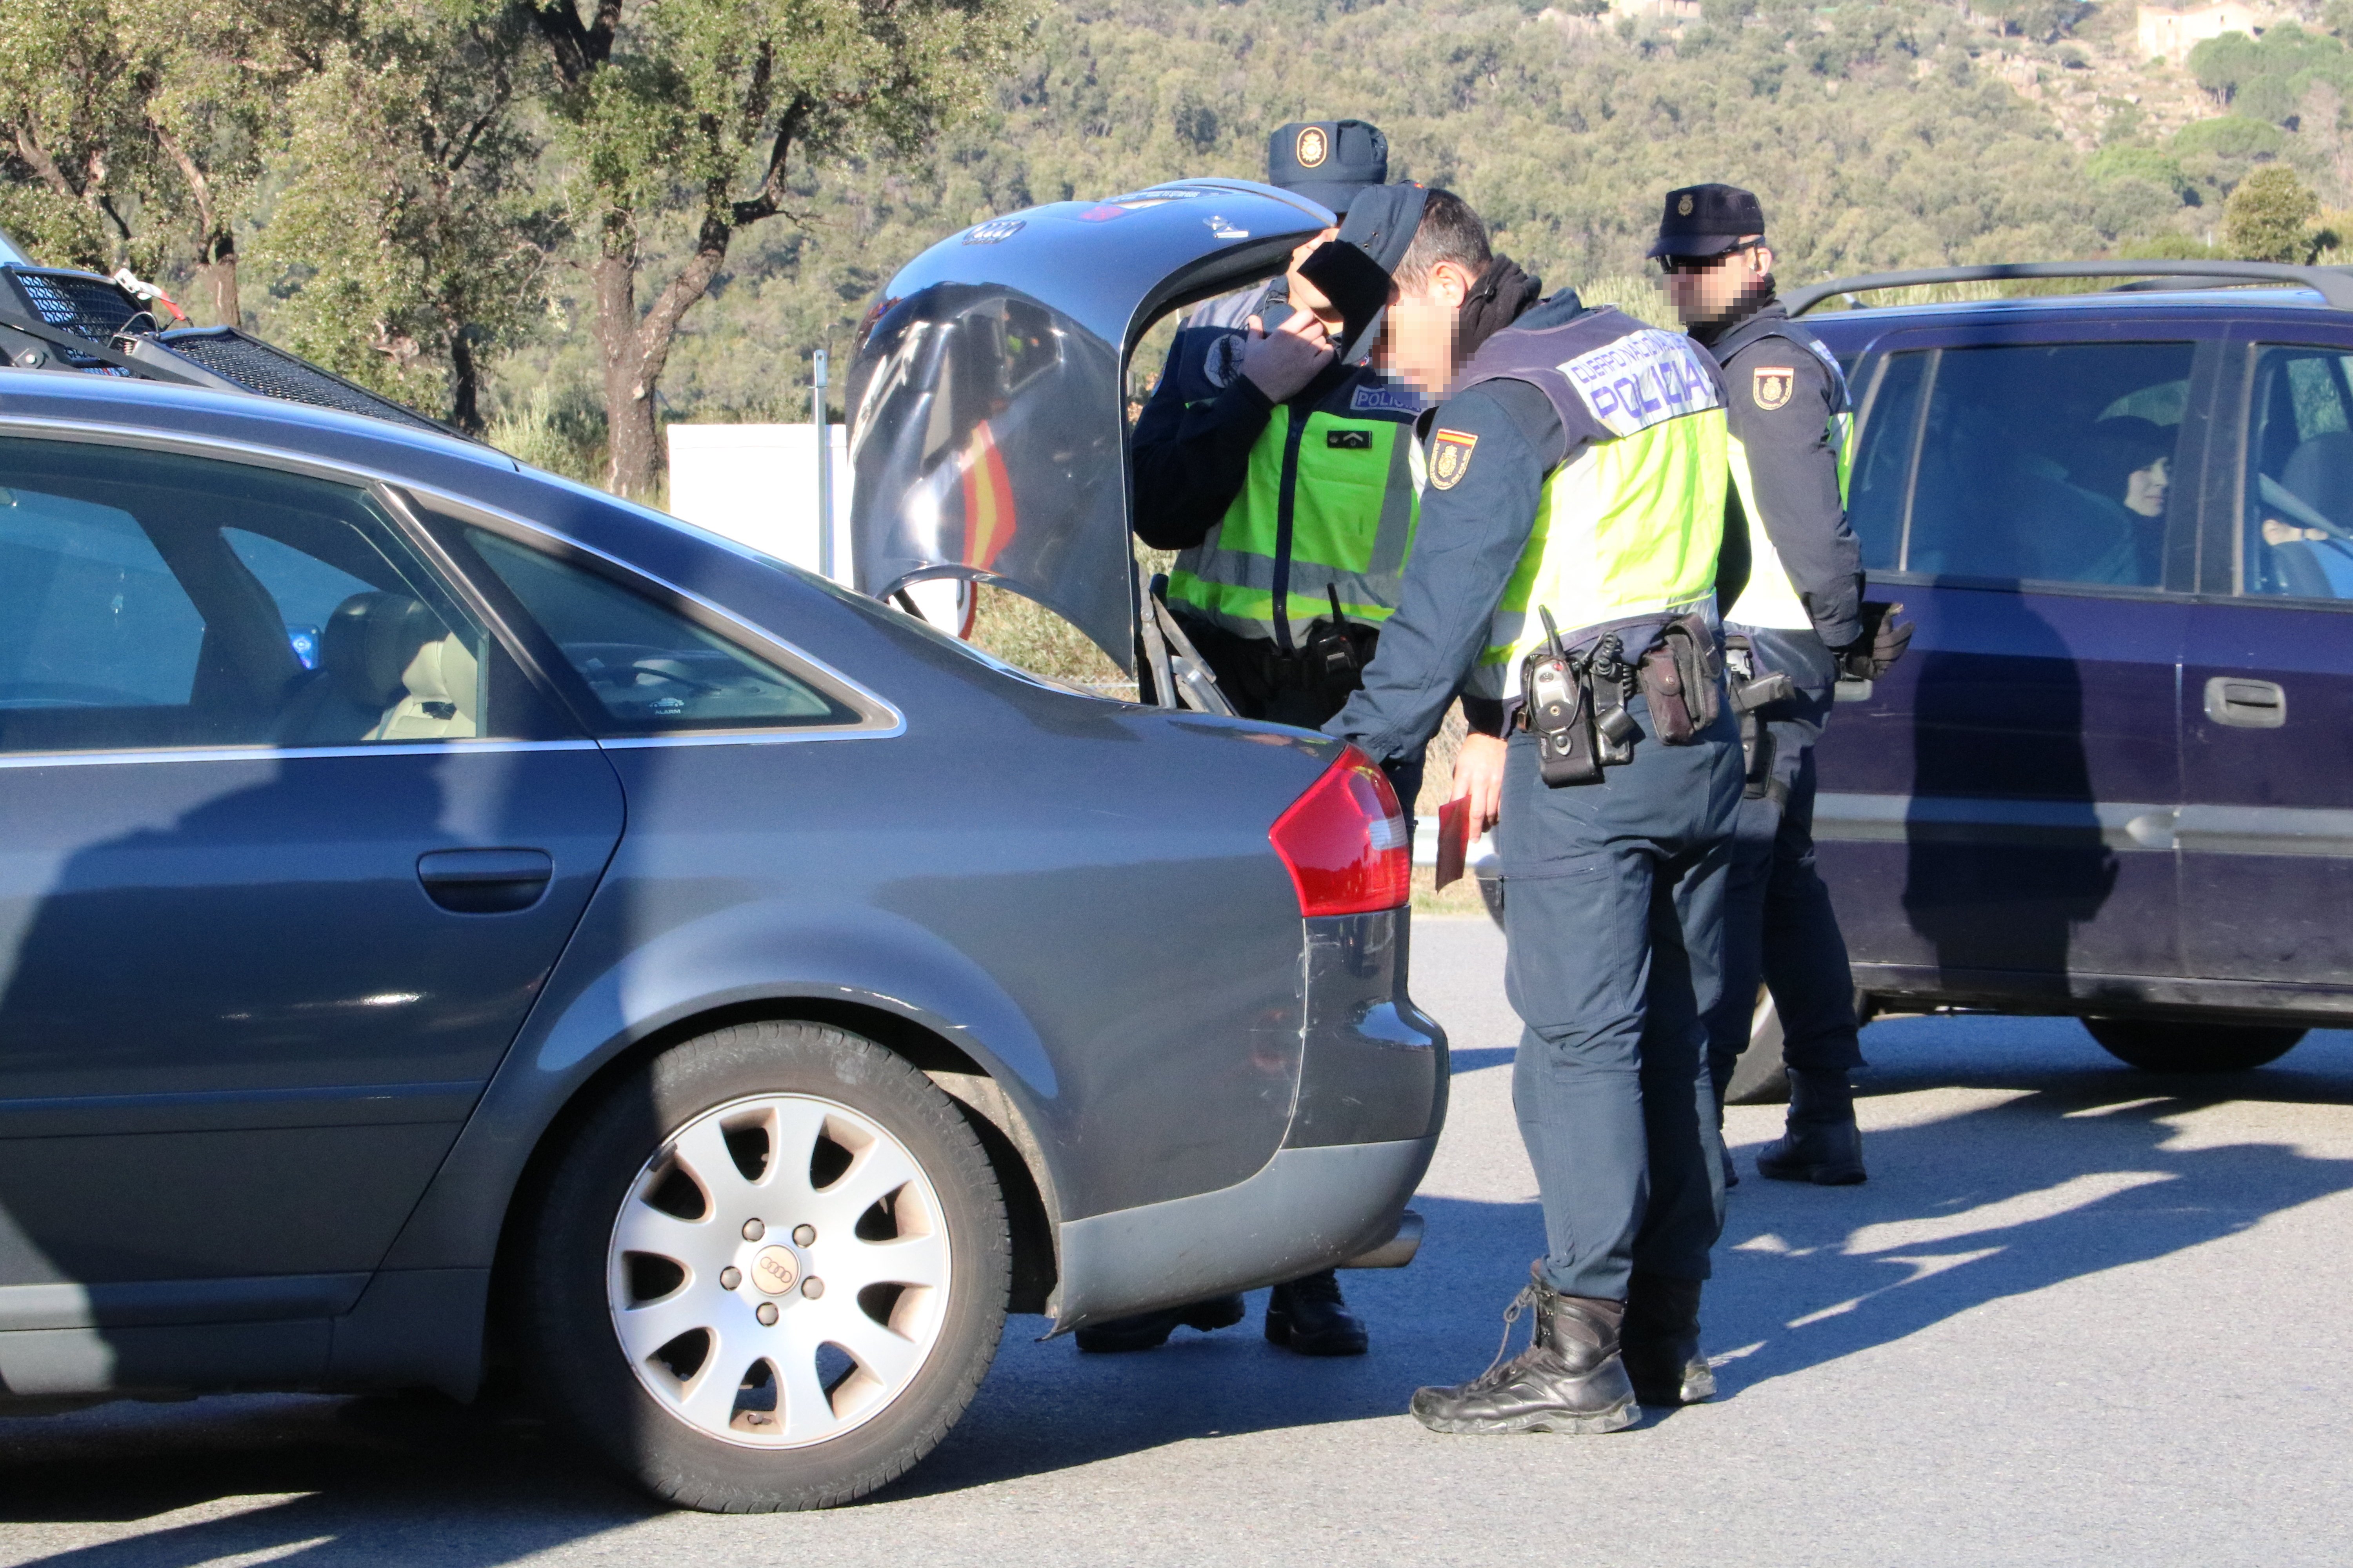
<svg viewBox="0 0 2353 1568"><path fill-rule="evenodd" d="M1007 1279L1005 1201L955 1103L859 1034L751 1023L652 1058L576 1128L518 1321L539 1396L654 1495L809 1509L946 1436Z"/></svg>

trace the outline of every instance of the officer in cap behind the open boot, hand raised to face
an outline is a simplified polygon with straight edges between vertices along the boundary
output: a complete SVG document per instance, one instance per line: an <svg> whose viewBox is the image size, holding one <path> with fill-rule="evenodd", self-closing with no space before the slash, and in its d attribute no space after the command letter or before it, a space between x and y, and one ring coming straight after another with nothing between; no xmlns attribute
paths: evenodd
<svg viewBox="0 0 2353 1568"><path fill-rule="evenodd" d="M1388 139L1362 120L1285 125L1266 162L1268 183L1346 214L1388 179ZM1409 388L1341 362L1341 315L1297 275L1332 237L1301 244L1273 289L1235 296L1240 320L1226 320L1228 308L1184 327L1132 437L1136 536L1179 550L1169 611L1235 712L1308 726L1355 686L1374 628L1395 609L1414 536L1407 454L1421 407ZM1374 240L1367 254L1388 270L1405 240L1386 252ZM1271 320L1285 310L1287 320ZM1421 759L1393 778L1412 802ZM1092 1324L1078 1347L1153 1349L1179 1326L1240 1321L1242 1298L1217 1295ZM1311 1356L1367 1347L1332 1269L1275 1286L1266 1338Z"/></svg>

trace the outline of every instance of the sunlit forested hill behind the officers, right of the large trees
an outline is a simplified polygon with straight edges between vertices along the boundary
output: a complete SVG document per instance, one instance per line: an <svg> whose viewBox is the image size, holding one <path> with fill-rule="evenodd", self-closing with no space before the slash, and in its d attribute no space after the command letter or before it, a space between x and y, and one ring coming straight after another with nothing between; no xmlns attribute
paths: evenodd
<svg viewBox="0 0 2353 1568"><path fill-rule="evenodd" d="M1659 193L1701 179L1765 197L1788 277L2191 244L2271 158L2346 200L2337 101L2304 132L2212 120L2228 89L2141 59L2134 7L2009 9L1708 0L1678 24L1480 0L1059 5L979 122L913 165L835 167L805 186L802 230L746 235L666 395L696 418L776 407L807 348L840 348L939 235L1179 174L1259 176L1266 132L1304 118L1381 125L1395 176L1461 190L1548 284L1638 270ZM2311 26L2325 66L2353 66L2318 12ZM2271 106L2292 122L2329 75L2297 68ZM2207 120L2184 136L2191 115Z"/></svg>

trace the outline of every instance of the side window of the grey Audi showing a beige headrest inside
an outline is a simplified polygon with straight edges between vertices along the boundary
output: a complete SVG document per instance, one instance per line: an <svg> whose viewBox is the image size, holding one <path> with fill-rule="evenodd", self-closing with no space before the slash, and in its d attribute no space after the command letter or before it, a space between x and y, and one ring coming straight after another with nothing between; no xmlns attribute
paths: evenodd
<svg viewBox="0 0 2353 1568"><path fill-rule="evenodd" d="M0 752L496 733L489 639L362 489L0 440Z"/></svg>

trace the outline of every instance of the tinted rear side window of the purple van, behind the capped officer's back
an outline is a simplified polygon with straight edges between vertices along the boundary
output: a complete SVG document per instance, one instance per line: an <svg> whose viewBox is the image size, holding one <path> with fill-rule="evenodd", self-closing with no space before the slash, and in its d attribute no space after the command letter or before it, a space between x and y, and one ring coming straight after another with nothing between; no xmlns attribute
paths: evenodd
<svg viewBox="0 0 2353 1568"><path fill-rule="evenodd" d="M1901 569L2162 585L2193 353L2193 343L1937 350ZM1885 538L1885 510L1868 527Z"/></svg>

